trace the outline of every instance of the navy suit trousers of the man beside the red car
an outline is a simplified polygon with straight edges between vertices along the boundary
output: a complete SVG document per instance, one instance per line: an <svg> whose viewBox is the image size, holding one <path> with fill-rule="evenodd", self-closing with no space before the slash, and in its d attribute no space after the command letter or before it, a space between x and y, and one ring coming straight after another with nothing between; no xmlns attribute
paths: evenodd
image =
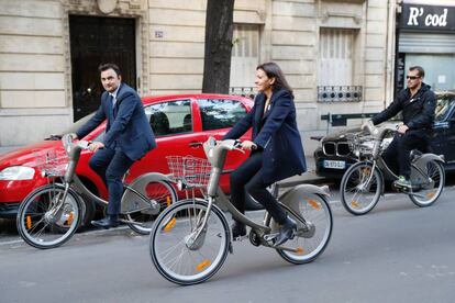
<svg viewBox="0 0 455 303"><path fill-rule="evenodd" d="M111 148L98 149L90 158L89 166L104 181L109 191L108 215L120 213L123 194L123 175L134 164L123 152Z"/></svg>

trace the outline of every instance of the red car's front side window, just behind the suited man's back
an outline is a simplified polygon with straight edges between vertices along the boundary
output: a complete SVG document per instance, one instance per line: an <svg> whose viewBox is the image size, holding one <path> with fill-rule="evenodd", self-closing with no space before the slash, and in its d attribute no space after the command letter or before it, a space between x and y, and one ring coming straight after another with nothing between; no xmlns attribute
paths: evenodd
<svg viewBox="0 0 455 303"><path fill-rule="evenodd" d="M192 132L190 100L162 102L144 110L154 134L158 137Z"/></svg>

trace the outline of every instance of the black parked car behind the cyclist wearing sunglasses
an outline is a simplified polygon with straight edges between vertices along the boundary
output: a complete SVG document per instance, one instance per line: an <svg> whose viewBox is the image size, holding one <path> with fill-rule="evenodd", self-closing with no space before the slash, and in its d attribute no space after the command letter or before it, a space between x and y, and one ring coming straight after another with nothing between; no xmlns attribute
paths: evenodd
<svg viewBox="0 0 455 303"><path fill-rule="evenodd" d="M435 121L431 132L431 149L436 155L444 155L446 170L455 169L455 91L437 92ZM386 122L386 123L398 123ZM353 134L360 127L345 128L328 134L320 139L314 150L315 171L318 176L341 179L344 171L357 161L353 150ZM389 138L389 142L391 137Z"/></svg>

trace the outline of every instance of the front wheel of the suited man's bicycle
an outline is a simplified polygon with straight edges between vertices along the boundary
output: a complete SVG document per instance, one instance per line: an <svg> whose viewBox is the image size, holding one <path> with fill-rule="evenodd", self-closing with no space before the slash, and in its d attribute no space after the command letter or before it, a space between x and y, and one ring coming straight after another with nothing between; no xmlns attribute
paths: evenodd
<svg viewBox="0 0 455 303"><path fill-rule="evenodd" d="M29 245L45 249L55 248L67 242L76 232L81 220L79 197L65 187L49 184L36 189L21 203L16 226L19 234Z"/></svg>

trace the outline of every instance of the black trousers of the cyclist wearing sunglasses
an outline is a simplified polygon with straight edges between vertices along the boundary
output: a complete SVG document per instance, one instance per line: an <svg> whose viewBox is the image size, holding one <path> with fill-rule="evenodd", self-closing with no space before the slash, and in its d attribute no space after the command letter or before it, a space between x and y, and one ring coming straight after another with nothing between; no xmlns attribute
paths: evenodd
<svg viewBox="0 0 455 303"><path fill-rule="evenodd" d="M430 138L425 131L396 133L392 142L384 152L382 158L395 173L409 179L411 176L410 152L412 149L419 149L422 153L431 150Z"/></svg>

